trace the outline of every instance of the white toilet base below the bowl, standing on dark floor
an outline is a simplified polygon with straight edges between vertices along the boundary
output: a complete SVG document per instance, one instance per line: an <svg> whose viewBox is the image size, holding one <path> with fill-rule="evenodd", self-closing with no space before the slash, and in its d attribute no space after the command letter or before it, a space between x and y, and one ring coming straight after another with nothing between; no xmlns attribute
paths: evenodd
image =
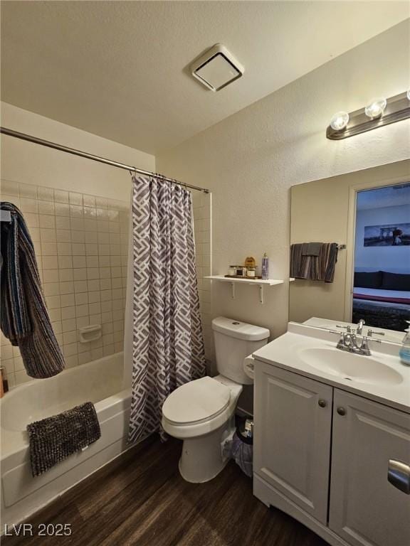
<svg viewBox="0 0 410 546"><path fill-rule="evenodd" d="M222 457L221 443L233 432L235 417L211 434L184 440L179 473L191 483L209 481L224 469L229 459Z"/></svg>

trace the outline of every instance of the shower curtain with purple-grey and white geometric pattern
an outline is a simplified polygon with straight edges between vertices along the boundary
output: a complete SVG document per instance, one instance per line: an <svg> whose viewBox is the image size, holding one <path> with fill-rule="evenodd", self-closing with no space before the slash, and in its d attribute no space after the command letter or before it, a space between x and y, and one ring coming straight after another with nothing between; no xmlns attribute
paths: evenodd
<svg viewBox="0 0 410 546"><path fill-rule="evenodd" d="M174 389L205 375L191 193L132 178L134 259L129 441L160 429Z"/></svg>

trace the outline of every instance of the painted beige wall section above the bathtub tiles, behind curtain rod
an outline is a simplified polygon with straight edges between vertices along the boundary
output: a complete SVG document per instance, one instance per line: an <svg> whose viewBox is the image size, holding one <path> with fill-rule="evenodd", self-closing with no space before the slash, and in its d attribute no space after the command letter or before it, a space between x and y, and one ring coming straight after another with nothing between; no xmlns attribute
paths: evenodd
<svg viewBox="0 0 410 546"><path fill-rule="evenodd" d="M1 125L90 154L107 157L147 171L155 171L155 158L143 151L97 137L53 119L0 103ZM124 121L127 123L127 120ZM1 178L19 183L51 186L110 199L129 200L131 177L127 171L30 142L1 135Z"/></svg>

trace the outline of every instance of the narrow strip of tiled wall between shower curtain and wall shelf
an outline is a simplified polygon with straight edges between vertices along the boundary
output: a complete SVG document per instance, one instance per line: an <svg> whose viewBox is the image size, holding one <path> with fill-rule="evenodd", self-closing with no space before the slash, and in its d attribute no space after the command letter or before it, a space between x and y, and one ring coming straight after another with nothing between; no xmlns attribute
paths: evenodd
<svg viewBox="0 0 410 546"><path fill-rule="evenodd" d="M196 270L198 272L199 303L204 328L206 359L212 360L211 332L211 282L204 279L211 274L211 193L192 192L194 206L194 228L196 247ZM211 371L211 368L209 368Z"/></svg>

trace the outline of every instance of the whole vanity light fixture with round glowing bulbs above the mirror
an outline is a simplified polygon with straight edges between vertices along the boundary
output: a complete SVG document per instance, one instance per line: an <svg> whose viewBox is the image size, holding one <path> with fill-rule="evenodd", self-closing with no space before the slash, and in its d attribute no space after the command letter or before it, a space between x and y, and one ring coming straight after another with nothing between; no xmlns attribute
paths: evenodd
<svg viewBox="0 0 410 546"><path fill-rule="evenodd" d="M365 108L354 112L337 112L330 120L326 137L330 140L347 139L390 123L410 118L410 90L390 97L372 100Z"/></svg>

